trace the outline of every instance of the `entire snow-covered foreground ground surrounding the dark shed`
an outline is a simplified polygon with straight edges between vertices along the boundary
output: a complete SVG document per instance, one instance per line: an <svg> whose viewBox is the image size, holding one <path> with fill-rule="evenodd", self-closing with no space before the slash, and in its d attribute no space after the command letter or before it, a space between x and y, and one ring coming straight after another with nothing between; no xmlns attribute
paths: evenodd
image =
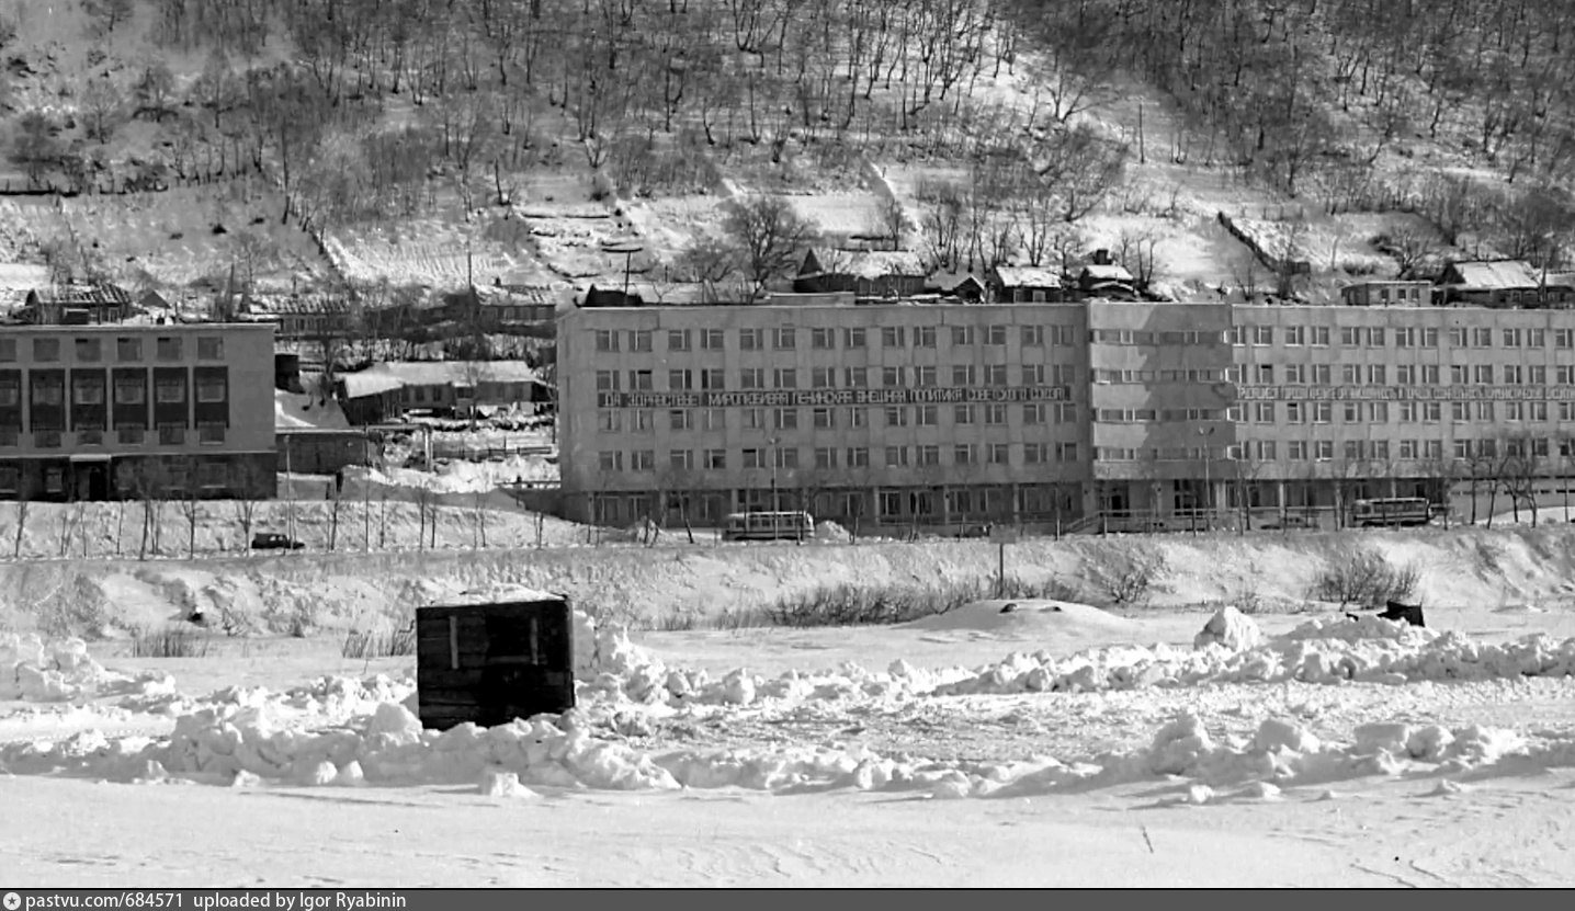
<svg viewBox="0 0 1575 911"><path fill-rule="evenodd" d="M1575 883L1570 532L1372 540L1424 566L1429 628L1318 603L1246 615L1200 596L1290 565L1296 546L1303 566L1265 574L1252 603L1304 587L1326 559L1317 537L1022 544L1011 571L1084 566L1084 581L1158 559L1173 603L986 599L888 628L731 633L576 612L575 710L447 732L422 730L410 658L346 661L288 637L131 658L115 637L13 623L0 869L38 886ZM466 557L428 566L436 581L414 601L520 584ZM636 618L665 609L668 565L691 559L580 549L556 581L597 573L602 596L638 601L621 614ZM687 596L712 609L732 582L764 593L769 573L781 590L978 570L959 544L702 559ZM340 560L295 584L332 596L381 571ZM260 566L287 563L299 566ZM540 560L534 573L553 581ZM1488 599L1495 588L1506 595ZM263 614L280 609L269 598L306 598L258 592ZM364 610L397 621L414 601ZM246 831L150 831L153 815ZM302 826L334 845L299 845Z"/></svg>

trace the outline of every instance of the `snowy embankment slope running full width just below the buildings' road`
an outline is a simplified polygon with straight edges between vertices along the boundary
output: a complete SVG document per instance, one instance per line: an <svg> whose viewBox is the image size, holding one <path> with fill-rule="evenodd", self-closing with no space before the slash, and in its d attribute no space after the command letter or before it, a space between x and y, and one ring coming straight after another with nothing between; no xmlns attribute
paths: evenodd
<svg viewBox="0 0 1575 911"><path fill-rule="evenodd" d="M359 510L359 503L351 507ZM999 555L994 544L981 541L690 546L679 532L663 535L673 544L603 546L587 559L583 527L558 519L543 522L547 548L529 546L536 540L529 516L512 524L495 516L485 526L488 543L524 544L520 549L471 551L480 530L469 510L441 516L439 543L452 549L359 554L353 551L364 537L378 546L383 508L373 502L370 521L362 521L351 507L340 519L337 554L313 549L206 560L0 562L0 626L96 637L106 628L137 629L205 606L214 615L227 612L250 631L282 633L301 617L318 628L343 628L372 615L405 621L413 606L495 584L564 592L592 612L655 626L673 614L717 617L824 585L921 588L978 582L994 576ZM331 522L324 503L313 503L310 513L302 503L296 508L298 537L309 543L326 538ZM421 529L417 507L395 503L387 515L389 544L397 540L408 548ZM132 511L128 527L135 519ZM169 537L184 543L184 533L172 526ZM562 546L575 533L583 546ZM1558 609L1572 598L1575 527L1567 524L1366 535L1025 540L1006 548L1006 573L1035 585L1057 581L1077 592L1076 599L1102 604L1110 599L1112 568L1139 566L1151 577L1145 606L1258 601L1296 607L1307 603L1317 574L1351 543L1372 544L1397 565L1416 566L1416 596L1430 617L1435 610L1447 617L1469 604ZM46 615L54 620L44 623Z"/></svg>

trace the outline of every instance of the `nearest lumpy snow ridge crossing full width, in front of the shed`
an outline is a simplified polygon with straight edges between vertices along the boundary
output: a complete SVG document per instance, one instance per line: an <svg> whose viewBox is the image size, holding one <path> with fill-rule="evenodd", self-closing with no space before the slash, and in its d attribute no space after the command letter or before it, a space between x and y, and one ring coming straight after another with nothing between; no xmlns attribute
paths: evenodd
<svg viewBox="0 0 1575 911"><path fill-rule="evenodd" d="M1329 743L1292 721L1266 719L1251 739L1217 743L1197 714L1166 724L1148 747L1066 763L915 762L866 747L789 746L649 754L595 736L578 711L506 725L422 730L398 703L381 703L353 724L290 724L272 703L213 706L186 714L167 739L80 732L61 741L0 747L13 774L82 774L121 782L180 777L249 787L469 784L499 798L532 788L674 790L737 787L784 790L846 787L923 790L936 798L1027 796L1071 785L1112 787L1172 776L1188 779L1183 802L1211 802L1219 788L1271 799L1285 787L1406 771L1463 773L1506 758L1575 762L1575 743L1537 747L1514 732L1403 724L1364 725L1353 743ZM1432 769L1419 765L1433 766Z"/></svg>

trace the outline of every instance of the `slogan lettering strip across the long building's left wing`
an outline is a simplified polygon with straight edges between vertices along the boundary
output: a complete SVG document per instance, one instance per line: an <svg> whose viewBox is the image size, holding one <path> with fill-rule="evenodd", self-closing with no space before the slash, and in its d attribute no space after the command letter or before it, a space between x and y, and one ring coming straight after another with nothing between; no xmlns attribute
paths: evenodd
<svg viewBox="0 0 1575 911"><path fill-rule="evenodd" d="M943 389L780 389L751 392L598 392L597 408L825 408L833 404L964 404L1065 401L1065 385Z"/></svg>

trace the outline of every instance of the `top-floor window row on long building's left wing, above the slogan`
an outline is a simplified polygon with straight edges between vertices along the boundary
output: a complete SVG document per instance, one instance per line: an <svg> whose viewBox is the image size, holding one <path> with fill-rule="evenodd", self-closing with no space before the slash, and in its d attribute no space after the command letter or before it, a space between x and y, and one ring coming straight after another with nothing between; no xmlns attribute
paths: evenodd
<svg viewBox="0 0 1575 911"><path fill-rule="evenodd" d="M1030 348L1073 346L1079 341L1074 326L1017 326L1016 329L1017 341ZM655 351L657 330L654 329L595 329L594 332L595 349L600 352L624 351L621 348L624 337L627 337L628 351ZM668 329L666 349L724 351L726 334L726 329ZM1005 346L1013 335L1010 326L882 326L879 329L778 326L772 329L734 329L734 334L739 351L797 351L802 337L808 337L811 351L860 349L869 348L871 334L877 334L882 348L939 348L940 338L948 338L953 348L980 343Z"/></svg>

